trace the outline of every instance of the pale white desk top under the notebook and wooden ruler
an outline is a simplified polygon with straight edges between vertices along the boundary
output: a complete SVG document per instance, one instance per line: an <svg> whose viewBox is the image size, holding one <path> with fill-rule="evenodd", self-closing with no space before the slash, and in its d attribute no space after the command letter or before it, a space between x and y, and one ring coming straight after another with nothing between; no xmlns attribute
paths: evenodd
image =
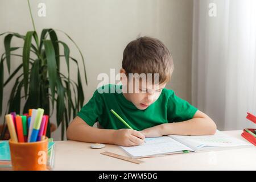
<svg viewBox="0 0 256 182"><path fill-rule="evenodd" d="M240 138L241 130L225 131ZM142 164L102 155L109 151L127 154L118 146L106 144L105 148L92 149L90 143L57 141L55 170L256 170L256 147L233 150L172 154L157 158L144 158Z"/></svg>

